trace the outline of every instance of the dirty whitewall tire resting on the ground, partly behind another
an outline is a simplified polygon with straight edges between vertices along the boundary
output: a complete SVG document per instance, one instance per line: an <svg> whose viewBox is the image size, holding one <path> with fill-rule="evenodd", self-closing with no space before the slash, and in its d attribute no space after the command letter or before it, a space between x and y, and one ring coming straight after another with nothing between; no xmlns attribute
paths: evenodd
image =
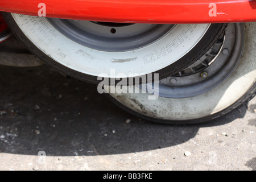
<svg viewBox="0 0 256 182"><path fill-rule="evenodd" d="M214 88L194 96L189 96L188 87L188 96L181 97L173 95L175 87L172 87L169 89L169 92L173 96L162 96L160 90L159 97L156 100L148 100L150 94L143 94L141 88L135 86L137 92L140 92L139 94L111 93L111 100L139 117L169 124L191 124L212 121L246 104L256 93L256 23L236 23L235 26L242 27L240 28L243 31L241 35L244 36L245 40L240 42L236 39L234 43L235 45L243 44L241 56L233 60L234 64L237 64L234 69L224 70L222 68L222 71L230 72L230 74L225 76ZM224 48L222 47L220 55L226 53ZM235 53L235 51L232 52L229 61L232 61L232 56ZM213 82L213 80L210 79L209 82ZM176 98L174 98L175 96Z"/></svg>

